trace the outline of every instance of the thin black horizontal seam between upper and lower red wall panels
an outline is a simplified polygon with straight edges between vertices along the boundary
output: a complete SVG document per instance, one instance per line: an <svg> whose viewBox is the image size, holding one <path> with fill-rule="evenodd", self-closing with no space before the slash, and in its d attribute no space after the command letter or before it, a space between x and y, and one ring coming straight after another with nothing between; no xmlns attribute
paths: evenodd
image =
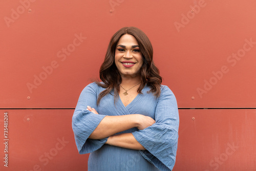
<svg viewBox="0 0 256 171"><path fill-rule="evenodd" d="M0 110L75 110L75 108L0 108ZM178 108L178 109L256 109L256 108Z"/></svg>

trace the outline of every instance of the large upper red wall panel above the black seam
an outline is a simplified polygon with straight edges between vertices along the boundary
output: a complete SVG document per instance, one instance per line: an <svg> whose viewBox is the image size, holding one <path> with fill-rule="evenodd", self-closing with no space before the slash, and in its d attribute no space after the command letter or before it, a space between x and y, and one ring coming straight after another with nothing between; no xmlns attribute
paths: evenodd
<svg viewBox="0 0 256 171"><path fill-rule="evenodd" d="M74 108L81 90L98 78L110 37L124 26L150 37L163 83L180 108L256 105L253 0L16 0L0 6L0 108Z"/></svg>

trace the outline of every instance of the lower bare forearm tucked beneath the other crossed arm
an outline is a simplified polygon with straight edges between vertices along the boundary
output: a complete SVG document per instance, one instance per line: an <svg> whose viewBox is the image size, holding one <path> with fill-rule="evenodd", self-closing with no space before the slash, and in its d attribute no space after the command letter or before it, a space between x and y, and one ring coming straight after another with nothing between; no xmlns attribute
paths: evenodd
<svg viewBox="0 0 256 171"><path fill-rule="evenodd" d="M132 133L112 135L106 144L129 149L144 150L145 148L134 138Z"/></svg>

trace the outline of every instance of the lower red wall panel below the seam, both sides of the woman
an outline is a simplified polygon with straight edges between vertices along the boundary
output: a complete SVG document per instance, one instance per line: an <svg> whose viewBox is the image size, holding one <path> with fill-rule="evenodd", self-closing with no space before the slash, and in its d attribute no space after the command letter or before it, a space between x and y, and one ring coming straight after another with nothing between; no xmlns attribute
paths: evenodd
<svg viewBox="0 0 256 171"><path fill-rule="evenodd" d="M71 128L74 110L0 110L1 132L8 112L8 168L1 170L87 170ZM179 110L174 170L256 168L256 110ZM1 133L1 139L6 139ZM5 142L5 141L4 141Z"/></svg>

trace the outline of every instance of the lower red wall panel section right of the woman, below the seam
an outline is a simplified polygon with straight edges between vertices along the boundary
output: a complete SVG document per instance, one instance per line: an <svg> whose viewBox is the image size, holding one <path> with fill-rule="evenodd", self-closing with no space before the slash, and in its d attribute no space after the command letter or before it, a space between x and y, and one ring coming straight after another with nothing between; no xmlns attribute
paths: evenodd
<svg viewBox="0 0 256 171"><path fill-rule="evenodd" d="M256 110L179 110L174 170L255 170Z"/></svg>

